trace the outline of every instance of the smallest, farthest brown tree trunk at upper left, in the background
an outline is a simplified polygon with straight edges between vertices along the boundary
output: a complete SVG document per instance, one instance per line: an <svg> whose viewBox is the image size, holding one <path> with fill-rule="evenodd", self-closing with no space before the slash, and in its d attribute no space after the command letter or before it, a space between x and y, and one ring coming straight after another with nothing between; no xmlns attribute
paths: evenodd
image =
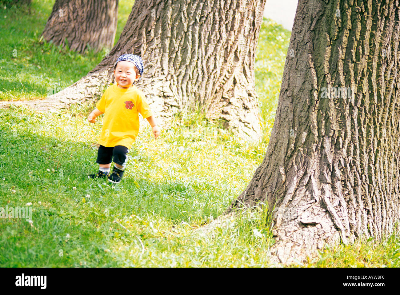
<svg viewBox="0 0 400 295"><path fill-rule="evenodd" d="M114 45L118 0L56 0L42 36L48 42L83 54Z"/></svg>

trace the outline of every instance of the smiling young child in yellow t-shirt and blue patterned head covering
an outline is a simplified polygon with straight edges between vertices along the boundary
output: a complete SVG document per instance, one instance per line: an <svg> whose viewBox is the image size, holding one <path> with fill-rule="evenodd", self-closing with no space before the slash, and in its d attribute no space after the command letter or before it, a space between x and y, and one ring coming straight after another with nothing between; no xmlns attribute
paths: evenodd
<svg viewBox="0 0 400 295"><path fill-rule="evenodd" d="M122 54L114 64L116 84L107 88L96 108L88 116L90 123L104 113L103 129L100 134L100 147L97 153L99 171L89 178L106 178L110 173L111 160L114 169L108 181L118 183L125 171L126 154L139 132L139 116L142 114L152 126L154 138L160 135L160 128L152 115L143 92L133 86L143 75L143 61L140 56Z"/></svg>

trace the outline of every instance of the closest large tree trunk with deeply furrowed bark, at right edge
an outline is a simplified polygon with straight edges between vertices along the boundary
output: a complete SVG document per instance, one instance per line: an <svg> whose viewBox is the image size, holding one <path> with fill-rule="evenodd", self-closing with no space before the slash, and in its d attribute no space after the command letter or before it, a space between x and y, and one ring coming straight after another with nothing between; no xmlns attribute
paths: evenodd
<svg viewBox="0 0 400 295"><path fill-rule="evenodd" d="M268 204L280 262L400 220L399 8L298 3L267 153L232 204Z"/></svg>

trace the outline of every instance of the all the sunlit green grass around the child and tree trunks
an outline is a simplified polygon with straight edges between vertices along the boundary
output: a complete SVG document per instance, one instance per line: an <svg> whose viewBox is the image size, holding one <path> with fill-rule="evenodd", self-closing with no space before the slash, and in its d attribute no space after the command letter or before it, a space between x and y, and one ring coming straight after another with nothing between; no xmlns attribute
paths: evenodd
<svg viewBox="0 0 400 295"><path fill-rule="evenodd" d="M102 59L104 52L81 56L39 42L53 2L33 1L30 15L1 10L0 100L42 98L48 87L75 82ZM120 0L119 32L131 7ZM211 236L195 229L224 212L264 157L289 37L264 20L256 59L260 143L240 142L198 114L176 118L158 140L147 124L116 186L86 179L97 169L102 127L102 117L87 122L90 106L48 114L1 109L0 207L31 208L32 223L0 218L0 266L268 266L273 241L265 211L242 211ZM360 239L326 248L301 266L398 267L399 241L395 234L382 242Z"/></svg>

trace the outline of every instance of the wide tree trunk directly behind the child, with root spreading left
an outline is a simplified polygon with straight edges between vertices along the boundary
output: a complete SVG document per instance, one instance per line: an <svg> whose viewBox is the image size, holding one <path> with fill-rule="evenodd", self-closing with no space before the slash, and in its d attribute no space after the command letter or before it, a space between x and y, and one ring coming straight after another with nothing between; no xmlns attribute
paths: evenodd
<svg viewBox="0 0 400 295"><path fill-rule="evenodd" d="M36 108L94 100L120 54L144 60L138 87L168 122L201 110L243 138L260 136L254 60L265 0L136 0L118 43L94 70Z"/></svg>

